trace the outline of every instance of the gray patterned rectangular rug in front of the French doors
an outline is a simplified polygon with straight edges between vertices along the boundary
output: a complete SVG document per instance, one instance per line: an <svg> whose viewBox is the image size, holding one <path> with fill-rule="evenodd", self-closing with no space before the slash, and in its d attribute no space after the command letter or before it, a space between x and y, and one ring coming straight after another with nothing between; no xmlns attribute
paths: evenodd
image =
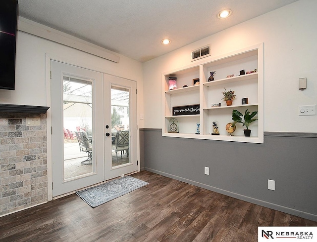
<svg viewBox="0 0 317 242"><path fill-rule="evenodd" d="M78 191L76 194L92 207L97 207L147 184L149 183L137 178L124 176L96 187Z"/></svg>

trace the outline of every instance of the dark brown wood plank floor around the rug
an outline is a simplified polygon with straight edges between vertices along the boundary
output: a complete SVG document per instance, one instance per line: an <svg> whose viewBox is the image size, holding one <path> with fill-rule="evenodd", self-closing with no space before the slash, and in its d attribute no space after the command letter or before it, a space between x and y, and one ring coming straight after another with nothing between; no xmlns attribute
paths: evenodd
<svg viewBox="0 0 317 242"><path fill-rule="evenodd" d="M73 194L1 217L0 241L256 242L258 226L317 226L148 171L132 176L149 185L95 208Z"/></svg>

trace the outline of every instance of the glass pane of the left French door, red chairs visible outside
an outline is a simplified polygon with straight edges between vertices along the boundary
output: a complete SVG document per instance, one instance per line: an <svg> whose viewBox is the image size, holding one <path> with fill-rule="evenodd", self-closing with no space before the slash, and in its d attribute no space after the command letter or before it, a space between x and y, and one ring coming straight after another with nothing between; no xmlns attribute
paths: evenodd
<svg viewBox="0 0 317 242"><path fill-rule="evenodd" d="M93 172L92 81L63 76L64 180Z"/></svg>

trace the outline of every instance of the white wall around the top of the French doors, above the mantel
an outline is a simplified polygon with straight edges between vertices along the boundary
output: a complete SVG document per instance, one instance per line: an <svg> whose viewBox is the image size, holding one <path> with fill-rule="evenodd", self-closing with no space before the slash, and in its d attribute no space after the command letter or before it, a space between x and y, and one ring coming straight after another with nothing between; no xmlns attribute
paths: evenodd
<svg viewBox="0 0 317 242"><path fill-rule="evenodd" d="M18 31L15 90L0 89L0 103L46 106L46 54L69 64L137 81L138 112L143 113L142 63L120 56L119 63ZM141 121L139 125L143 125Z"/></svg>

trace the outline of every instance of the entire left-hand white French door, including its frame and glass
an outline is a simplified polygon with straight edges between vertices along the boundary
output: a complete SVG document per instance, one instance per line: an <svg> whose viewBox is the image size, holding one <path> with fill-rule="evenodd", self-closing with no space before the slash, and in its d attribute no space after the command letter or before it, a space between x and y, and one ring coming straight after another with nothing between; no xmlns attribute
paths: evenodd
<svg viewBox="0 0 317 242"><path fill-rule="evenodd" d="M53 197L104 180L102 73L51 60Z"/></svg>

